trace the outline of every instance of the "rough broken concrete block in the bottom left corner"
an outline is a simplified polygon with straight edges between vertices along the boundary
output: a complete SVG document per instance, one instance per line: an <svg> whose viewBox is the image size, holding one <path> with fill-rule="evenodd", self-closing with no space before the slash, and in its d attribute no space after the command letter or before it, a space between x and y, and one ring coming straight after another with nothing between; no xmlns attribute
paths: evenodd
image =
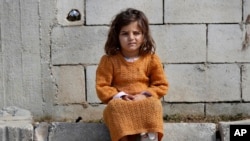
<svg viewBox="0 0 250 141"><path fill-rule="evenodd" d="M0 141L33 141L30 111L15 106L0 110Z"/></svg>

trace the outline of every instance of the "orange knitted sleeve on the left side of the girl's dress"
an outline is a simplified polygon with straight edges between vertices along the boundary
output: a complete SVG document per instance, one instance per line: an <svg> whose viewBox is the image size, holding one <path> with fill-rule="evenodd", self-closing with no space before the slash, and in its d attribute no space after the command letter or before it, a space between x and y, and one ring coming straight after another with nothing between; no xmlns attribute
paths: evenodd
<svg viewBox="0 0 250 141"><path fill-rule="evenodd" d="M113 65L107 55L101 58L96 70L96 92L103 103L108 103L112 97L118 93L115 87L112 87Z"/></svg>

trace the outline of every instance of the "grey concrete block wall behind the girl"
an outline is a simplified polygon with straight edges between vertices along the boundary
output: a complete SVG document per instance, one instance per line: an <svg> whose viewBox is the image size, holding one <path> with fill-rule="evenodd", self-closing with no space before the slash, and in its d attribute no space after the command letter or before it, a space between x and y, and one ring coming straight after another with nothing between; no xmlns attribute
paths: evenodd
<svg viewBox="0 0 250 141"><path fill-rule="evenodd" d="M170 83L164 114L250 114L250 0L2 0L0 107L100 119L95 70L127 7L150 21ZM71 9L79 21L66 19Z"/></svg>

